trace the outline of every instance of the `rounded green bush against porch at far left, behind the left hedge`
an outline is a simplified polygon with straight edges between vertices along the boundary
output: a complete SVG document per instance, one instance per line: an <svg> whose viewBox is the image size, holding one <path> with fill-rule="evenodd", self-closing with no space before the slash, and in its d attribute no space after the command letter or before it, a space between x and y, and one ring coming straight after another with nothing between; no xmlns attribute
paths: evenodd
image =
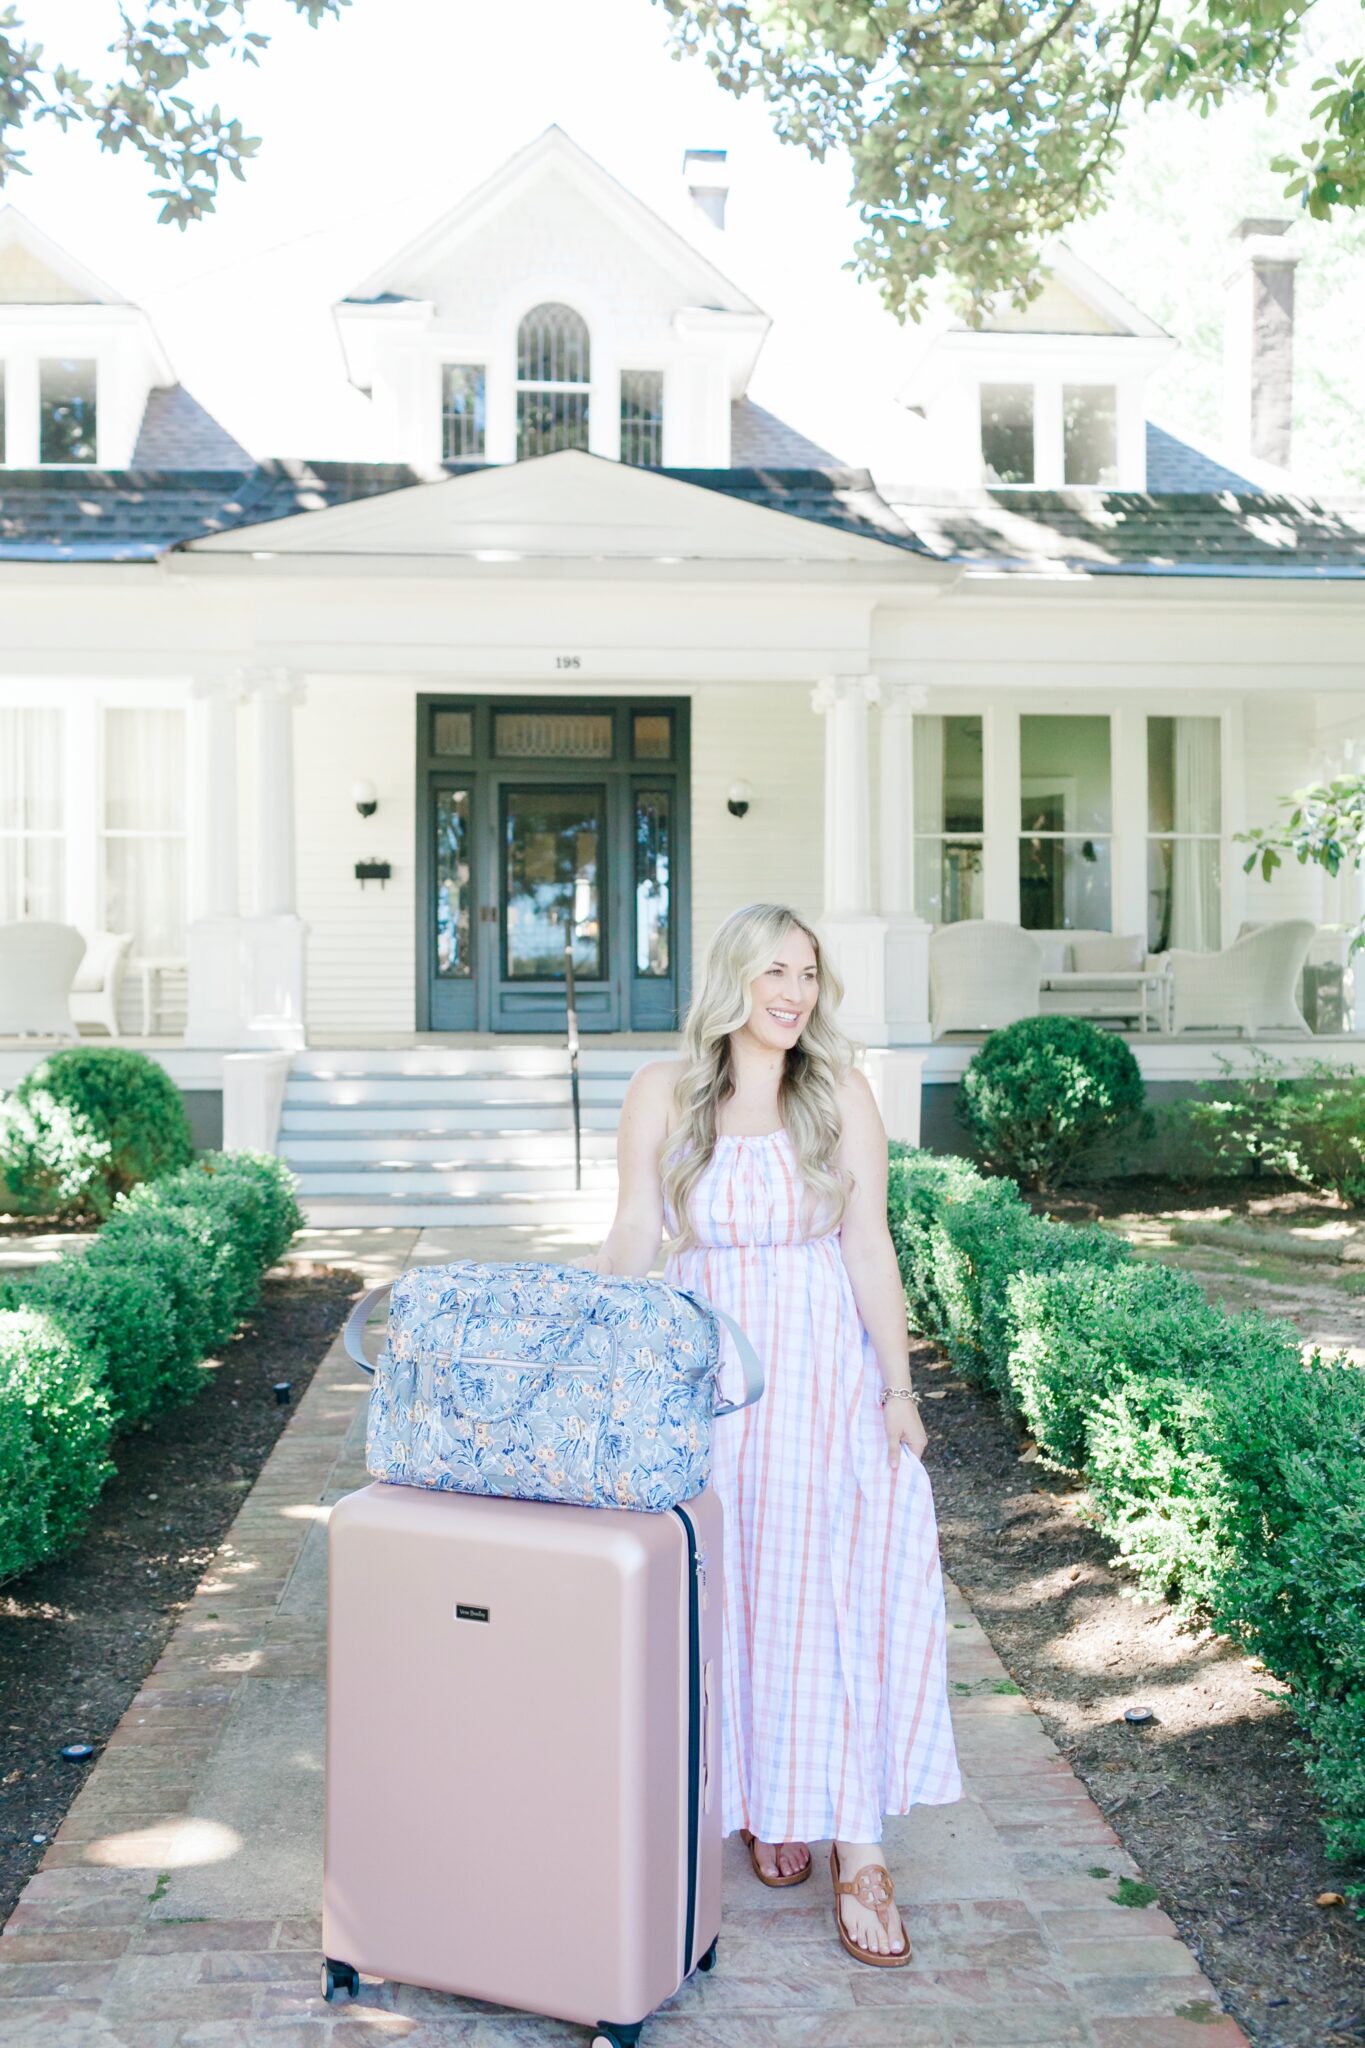
<svg viewBox="0 0 1365 2048"><path fill-rule="evenodd" d="M20 1214L94 1217L194 1157L176 1083L143 1053L70 1047L0 1106L0 1178Z"/></svg>

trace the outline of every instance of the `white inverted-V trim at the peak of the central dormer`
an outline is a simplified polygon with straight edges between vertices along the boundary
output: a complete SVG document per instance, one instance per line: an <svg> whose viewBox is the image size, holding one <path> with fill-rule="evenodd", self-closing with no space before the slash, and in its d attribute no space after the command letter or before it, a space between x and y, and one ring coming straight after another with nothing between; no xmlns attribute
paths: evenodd
<svg viewBox="0 0 1365 2048"><path fill-rule="evenodd" d="M546 127L532 143L508 158L458 205L354 285L342 303L393 303L411 297L411 283L417 274L456 250L475 229L542 178L573 180L596 199L636 244L645 244L655 260L679 279L690 303L726 313L761 313L761 307L739 285L604 170L596 158L587 156L559 125Z"/></svg>

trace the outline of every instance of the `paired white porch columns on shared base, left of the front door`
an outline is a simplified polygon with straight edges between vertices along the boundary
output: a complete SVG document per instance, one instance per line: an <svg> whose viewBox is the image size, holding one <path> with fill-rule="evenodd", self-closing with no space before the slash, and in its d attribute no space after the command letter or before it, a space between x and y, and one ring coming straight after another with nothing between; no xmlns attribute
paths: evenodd
<svg viewBox="0 0 1365 2048"><path fill-rule="evenodd" d="M237 700L252 698L250 780L256 842L252 915L237 905ZM237 670L196 690L196 840L190 887L190 1006L186 1044L305 1042L303 924L295 909L293 707L287 670Z"/></svg>

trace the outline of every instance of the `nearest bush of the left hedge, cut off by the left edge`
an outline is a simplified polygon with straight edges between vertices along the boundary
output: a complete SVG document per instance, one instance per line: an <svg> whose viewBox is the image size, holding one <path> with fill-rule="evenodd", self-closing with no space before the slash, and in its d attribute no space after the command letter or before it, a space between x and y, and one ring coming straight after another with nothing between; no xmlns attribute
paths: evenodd
<svg viewBox="0 0 1365 2048"><path fill-rule="evenodd" d="M0 1313L0 1579L70 1548L113 1473L96 1376L43 1313Z"/></svg>

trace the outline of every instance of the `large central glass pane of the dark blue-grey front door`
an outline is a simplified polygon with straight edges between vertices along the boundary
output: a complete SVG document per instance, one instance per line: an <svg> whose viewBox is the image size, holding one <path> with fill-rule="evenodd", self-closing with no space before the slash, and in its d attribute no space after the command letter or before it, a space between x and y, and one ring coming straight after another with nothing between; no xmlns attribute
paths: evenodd
<svg viewBox="0 0 1365 2048"><path fill-rule="evenodd" d="M503 821L503 932L510 981L559 981L565 930L573 926L573 967L604 975L602 788L510 788Z"/></svg>

